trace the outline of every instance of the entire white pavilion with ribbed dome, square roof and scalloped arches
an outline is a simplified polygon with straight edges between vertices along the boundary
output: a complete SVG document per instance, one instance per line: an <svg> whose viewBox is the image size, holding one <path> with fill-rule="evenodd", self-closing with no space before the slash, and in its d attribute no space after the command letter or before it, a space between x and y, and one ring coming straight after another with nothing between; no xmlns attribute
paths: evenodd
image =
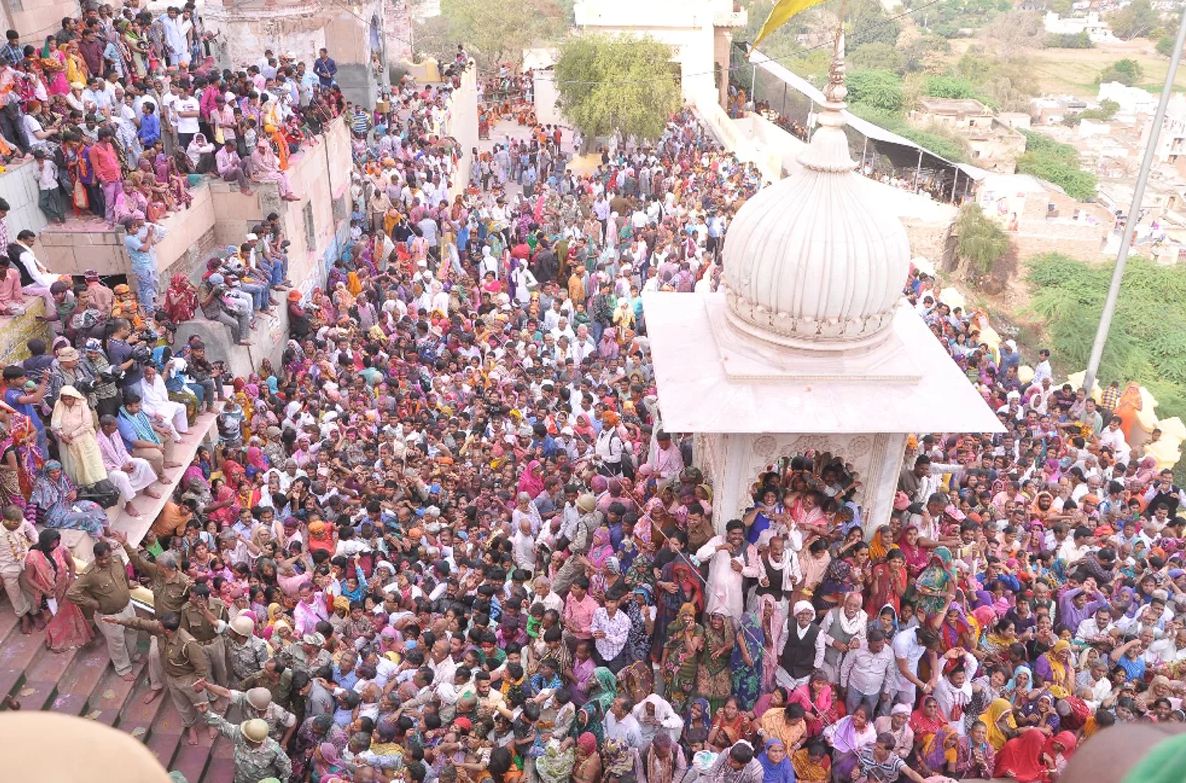
<svg viewBox="0 0 1186 783"><path fill-rule="evenodd" d="M873 530L911 433L1002 431L903 300L910 243L849 157L839 58L825 96L803 170L729 225L722 291L645 299L663 426L695 433L719 530L759 473L822 454L844 463Z"/></svg>

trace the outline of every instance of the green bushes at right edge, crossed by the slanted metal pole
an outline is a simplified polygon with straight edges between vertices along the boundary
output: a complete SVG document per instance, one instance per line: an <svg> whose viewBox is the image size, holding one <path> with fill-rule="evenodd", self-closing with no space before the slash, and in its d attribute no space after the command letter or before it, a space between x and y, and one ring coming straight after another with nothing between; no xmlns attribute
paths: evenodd
<svg viewBox="0 0 1186 783"><path fill-rule="evenodd" d="M1066 367L1080 369L1108 295L1111 263L1056 253L1029 260L1029 311L1045 322L1050 345ZM1158 399L1158 415L1186 415L1186 310L1166 303L1186 297L1186 267L1129 259L1104 346L1099 383L1136 381Z"/></svg>

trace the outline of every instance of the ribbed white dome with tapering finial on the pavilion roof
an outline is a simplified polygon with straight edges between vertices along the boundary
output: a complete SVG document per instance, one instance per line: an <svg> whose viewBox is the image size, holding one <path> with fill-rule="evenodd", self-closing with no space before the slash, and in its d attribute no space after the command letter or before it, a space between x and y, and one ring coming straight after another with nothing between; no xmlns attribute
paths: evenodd
<svg viewBox="0 0 1186 783"><path fill-rule="evenodd" d="M906 230L856 173L835 64L803 171L747 200L725 236L729 320L761 339L855 349L888 335L910 270Z"/></svg>

